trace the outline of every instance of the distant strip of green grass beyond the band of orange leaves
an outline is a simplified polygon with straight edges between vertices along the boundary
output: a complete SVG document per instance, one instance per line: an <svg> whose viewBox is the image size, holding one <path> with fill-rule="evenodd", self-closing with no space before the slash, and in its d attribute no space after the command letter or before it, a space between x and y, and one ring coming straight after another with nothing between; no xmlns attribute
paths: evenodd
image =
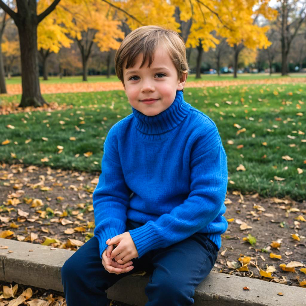
<svg viewBox="0 0 306 306"><path fill-rule="evenodd" d="M269 73L238 73L237 79L233 78L233 73L225 73L218 76L217 74L202 74L200 79L196 79L195 74L188 75L187 82L194 81L226 81L226 80L262 80L262 79L278 79L282 78L280 73L274 73L271 76ZM291 73L289 77L306 77L306 73ZM49 76L48 80L44 81L42 77L39 78L41 84L55 84L55 83L78 83L83 82L82 76L63 76L60 79L58 76ZM110 78L106 76L88 76L89 83L95 82L119 82L117 76L112 75ZM21 84L21 76L13 76L9 80L6 78L6 84Z"/></svg>

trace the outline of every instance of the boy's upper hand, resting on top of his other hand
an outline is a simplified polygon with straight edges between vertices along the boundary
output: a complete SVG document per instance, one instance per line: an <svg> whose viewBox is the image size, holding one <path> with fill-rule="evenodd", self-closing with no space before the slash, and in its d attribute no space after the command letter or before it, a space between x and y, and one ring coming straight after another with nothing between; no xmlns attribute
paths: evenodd
<svg viewBox="0 0 306 306"><path fill-rule="evenodd" d="M109 250L107 255L111 253L110 259L115 259L120 264L127 263L129 260L138 257L138 251L129 232L108 239L106 244L108 244L109 247L117 244L117 247L114 248L113 251Z"/></svg>

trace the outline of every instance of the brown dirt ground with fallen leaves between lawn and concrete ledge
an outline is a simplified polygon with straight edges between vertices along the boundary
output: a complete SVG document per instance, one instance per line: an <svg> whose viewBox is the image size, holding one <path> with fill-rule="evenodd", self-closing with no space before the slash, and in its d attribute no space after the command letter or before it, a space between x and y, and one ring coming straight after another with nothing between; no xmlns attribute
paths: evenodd
<svg viewBox="0 0 306 306"><path fill-rule="evenodd" d="M0 164L0 237L38 244L50 238L50 246L77 250L93 235L92 192L98 177L98 173ZM225 203L229 226L222 234L214 269L286 285L306 284L306 201L232 192ZM256 238L255 244L248 234ZM270 258L270 253L281 259ZM280 264L292 265L294 272L283 271ZM271 274L263 274L267 267Z"/></svg>

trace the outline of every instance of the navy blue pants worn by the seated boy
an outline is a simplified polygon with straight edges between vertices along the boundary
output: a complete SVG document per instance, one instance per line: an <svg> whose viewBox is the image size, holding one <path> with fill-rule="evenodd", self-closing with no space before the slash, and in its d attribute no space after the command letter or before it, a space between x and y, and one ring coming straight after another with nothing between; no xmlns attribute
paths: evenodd
<svg viewBox="0 0 306 306"><path fill-rule="evenodd" d="M126 223L126 230L143 224ZM109 273L99 256L99 243L92 237L64 263L61 274L67 306L107 306L105 290L126 275L137 271L150 273L145 288L146 306L192 305L195 288L214 267L218 248L205 234L195 233L187 239L151 250L132 259L133 269L126 273Z"/></svg>

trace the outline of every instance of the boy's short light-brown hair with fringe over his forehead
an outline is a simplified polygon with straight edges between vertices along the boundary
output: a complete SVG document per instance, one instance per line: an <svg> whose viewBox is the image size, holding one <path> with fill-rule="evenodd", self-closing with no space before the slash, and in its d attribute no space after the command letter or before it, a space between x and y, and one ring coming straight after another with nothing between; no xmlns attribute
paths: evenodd
<svg viewBox="0 0 306 306"><path fill-rule="evenodd" d="M136 56L143 54L140 68L149 58L148 67L154 60L154 52L160 44L166 47L170 58L177 70L180 79L183 73L188 73L188 63L186 59L186 47L183 39L173 30L155 25L146 25L135 29L129 33L122 41L115 55L115 72L118 78L123 81L123 64L126 60L125 69L135 65Z"/></svg>

